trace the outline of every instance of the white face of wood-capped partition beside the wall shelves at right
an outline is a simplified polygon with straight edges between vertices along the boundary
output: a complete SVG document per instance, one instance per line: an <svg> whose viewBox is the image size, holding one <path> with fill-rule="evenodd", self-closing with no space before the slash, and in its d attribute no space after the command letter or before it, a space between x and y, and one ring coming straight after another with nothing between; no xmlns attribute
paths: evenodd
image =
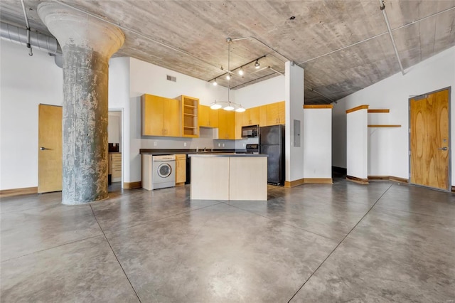
<svg viewBox="0 0 455 303"><path fill-rule="evenodd" d="M368 179L368 113L367 109L350 112L346 118L348 176Z"/></svg>

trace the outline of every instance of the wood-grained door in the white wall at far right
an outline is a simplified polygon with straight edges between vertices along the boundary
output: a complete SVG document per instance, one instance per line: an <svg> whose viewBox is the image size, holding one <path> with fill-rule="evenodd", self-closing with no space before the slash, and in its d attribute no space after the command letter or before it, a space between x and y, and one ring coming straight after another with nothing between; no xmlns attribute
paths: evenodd
<svg viewBox="0 0 455 303"><path fill-rule="evenodd" d="M449 90L410 99L410 181L449 190Z"/></svg>

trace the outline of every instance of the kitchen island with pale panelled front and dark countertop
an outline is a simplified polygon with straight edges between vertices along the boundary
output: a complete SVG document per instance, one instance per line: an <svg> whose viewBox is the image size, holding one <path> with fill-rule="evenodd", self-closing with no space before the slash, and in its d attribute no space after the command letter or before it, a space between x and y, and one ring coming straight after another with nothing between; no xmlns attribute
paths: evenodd
<svg viewBox="0 0 455 303"><path fill-rule="evenodd" d="M191 157L191 199L267 201L267 154L199 153Z"/></svg>

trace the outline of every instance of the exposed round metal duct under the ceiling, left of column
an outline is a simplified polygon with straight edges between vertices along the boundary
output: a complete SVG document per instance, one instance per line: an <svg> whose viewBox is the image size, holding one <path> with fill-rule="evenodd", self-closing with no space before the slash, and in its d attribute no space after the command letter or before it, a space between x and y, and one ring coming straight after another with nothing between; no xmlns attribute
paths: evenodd
<svg viewBox="0 0 455 303"><path fill-rule="evenodd" d="M21 46L27 46L27 30L11 24L0 22L0 38L6 41L19 43ZM30 44L33 48L45 51L49 55L55 56L55 64L60 68L63 66L62 50L58 46L57 39L43 35L38 32L30 32Z"/></svg>

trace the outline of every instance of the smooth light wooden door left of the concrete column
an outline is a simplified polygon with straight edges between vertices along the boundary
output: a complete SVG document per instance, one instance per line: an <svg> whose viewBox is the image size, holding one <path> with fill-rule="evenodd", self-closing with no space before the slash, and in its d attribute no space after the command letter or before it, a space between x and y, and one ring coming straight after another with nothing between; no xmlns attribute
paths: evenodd
<svg viewBox="0 0 455 303"><path fill-rule="evenodd" d="M62 107L38 105L38 193L62 190Z"/></svg>

